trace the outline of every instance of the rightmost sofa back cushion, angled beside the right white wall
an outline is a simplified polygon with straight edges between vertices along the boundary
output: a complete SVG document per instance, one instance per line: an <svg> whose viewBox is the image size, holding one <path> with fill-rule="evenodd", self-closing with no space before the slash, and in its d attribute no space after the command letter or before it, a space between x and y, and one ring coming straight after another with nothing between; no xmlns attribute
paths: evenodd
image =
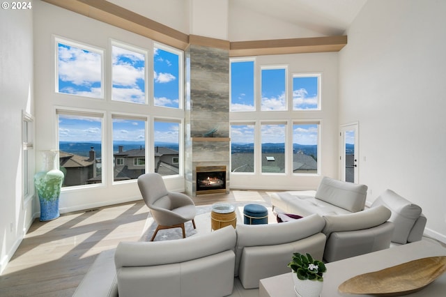
<svg viewBox="0 0 446 297"><path fill-rule="evenodd" d="M420 218L422 208L388 189L376 198L371 207L380 205L386 206L392 211L389 219L395 225L392 242L407 243L410 230L412 230L415 221Z"/></svg>

